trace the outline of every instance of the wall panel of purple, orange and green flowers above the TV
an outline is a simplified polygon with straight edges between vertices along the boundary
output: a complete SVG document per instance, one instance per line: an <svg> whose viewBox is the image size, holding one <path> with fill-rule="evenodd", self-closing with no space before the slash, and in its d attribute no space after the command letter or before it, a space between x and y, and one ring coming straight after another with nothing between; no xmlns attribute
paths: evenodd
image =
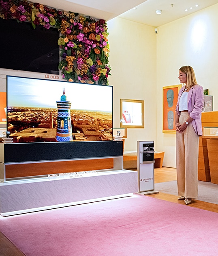
<svg viewBox="0 0 218 256"><path fill-rule="evenodd" d="M108 84L109 44L105 20L60 11L43 4L19 0L0 0L0 18L29 21L35 28L55 26L61 36L59 69L63 79L72 82Z"/></svg>

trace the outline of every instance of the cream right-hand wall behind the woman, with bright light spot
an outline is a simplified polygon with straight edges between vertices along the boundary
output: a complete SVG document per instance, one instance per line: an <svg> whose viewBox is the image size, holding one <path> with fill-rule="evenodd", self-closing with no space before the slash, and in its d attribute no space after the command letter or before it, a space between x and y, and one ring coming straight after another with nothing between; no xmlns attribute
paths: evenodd
<svg viewBox="0 0 218 256"><path fill-rule="evenodd" d="M180 84L178 70L194 68L197 82L214 96L218 110L218 4L158 28L157 35L157 141L165 151L163 166L175 167L175 133L162 133L162 87Z"/></svg>

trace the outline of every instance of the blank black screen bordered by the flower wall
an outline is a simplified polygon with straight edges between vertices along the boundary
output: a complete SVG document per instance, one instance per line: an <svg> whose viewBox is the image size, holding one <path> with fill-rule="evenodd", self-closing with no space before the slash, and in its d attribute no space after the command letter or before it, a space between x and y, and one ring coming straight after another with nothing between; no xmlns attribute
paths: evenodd
<svg viewBox="0 0 218 256"><path fill-rule="evenodd" d="M58 28L0 18L0 35L0 68L59 74Z"/></svg>

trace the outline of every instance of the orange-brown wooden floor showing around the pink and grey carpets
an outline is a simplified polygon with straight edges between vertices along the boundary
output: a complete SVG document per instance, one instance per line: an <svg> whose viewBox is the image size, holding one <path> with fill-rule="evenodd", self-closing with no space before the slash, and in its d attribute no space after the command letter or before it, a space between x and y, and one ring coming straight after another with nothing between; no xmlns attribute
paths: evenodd
<svg viewBox="0 0 218 256"><path fill-rule="evenodd" d="M154 170L155 183L169 182L176 180L176 169L175 168L156 168ZM169 195L165 193L158 193L153 195L146 195L147 197L155 197L161 200L170 201L173 203L184 204L183 200L177 200L177 196ZM199 200L193 200L193 203L187 205L187 207L196 207L203 210L212 212L218 212L218 205L214 203L207 203ZM1 232L0 232L0 256L24 256L13 243L11 243Z"/></svg>

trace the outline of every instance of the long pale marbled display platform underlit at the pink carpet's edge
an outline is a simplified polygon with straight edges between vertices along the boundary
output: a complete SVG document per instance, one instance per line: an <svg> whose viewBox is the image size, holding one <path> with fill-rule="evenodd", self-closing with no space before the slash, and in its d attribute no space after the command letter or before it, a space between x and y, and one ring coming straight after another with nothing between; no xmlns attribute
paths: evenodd
<svg viewBox="0 0 218 256"><path fill-rule="evenodd" d="M137 192L137 171L98 171L80 177L0 182L0 214L38 210L130 196Z"/></svg>

